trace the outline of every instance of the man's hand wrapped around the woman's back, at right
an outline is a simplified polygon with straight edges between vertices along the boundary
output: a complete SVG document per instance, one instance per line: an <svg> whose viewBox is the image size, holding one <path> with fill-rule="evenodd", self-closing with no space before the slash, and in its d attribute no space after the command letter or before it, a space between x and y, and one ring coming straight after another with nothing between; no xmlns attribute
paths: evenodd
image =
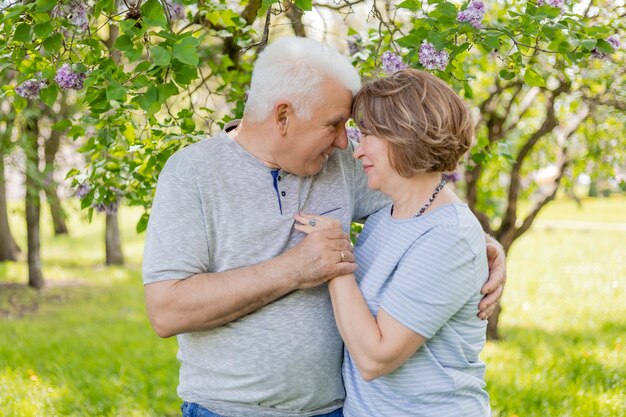
<svg viewBox="0 0 626 417"><path fill-rule="evenodd" d="M487 260L489 262L489 279L483 285L480 292L485 294L478 305L478 317L486 320L496 309L502 297L504 283L506 282L506 260L502 245L489 235L485 235L487 242Z"/></svg>

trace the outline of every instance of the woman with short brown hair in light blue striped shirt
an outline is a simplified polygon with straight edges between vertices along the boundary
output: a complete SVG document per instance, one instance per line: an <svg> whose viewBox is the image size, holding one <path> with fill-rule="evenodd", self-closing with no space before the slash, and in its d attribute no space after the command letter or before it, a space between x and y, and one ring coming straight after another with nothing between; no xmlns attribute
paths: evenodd
<svg viewBox="0 0 626 417"><path fill-rule="evenodd" d="M365 223L356 273L329 282L347 348L344 415L488 416L476 317L485 237L442 178L472 142L468 109L443 81L407 69L365 84L352 116L363 134L354 157L393 203ZM305 233L341 227L295 219Z"/></svg>

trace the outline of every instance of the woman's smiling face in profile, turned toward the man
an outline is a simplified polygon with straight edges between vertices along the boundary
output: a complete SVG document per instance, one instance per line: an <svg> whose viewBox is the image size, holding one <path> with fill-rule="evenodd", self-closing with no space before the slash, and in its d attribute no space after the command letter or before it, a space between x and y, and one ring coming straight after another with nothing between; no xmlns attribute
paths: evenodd
<svg viewBox="0 0 626 417"><path fill-rule="evenodd" d="M392 181L399 177L389 162L389 143L377 136L363 133L354 150L354 159L360 159L367 175L367 186L389 195Z"/></svg>

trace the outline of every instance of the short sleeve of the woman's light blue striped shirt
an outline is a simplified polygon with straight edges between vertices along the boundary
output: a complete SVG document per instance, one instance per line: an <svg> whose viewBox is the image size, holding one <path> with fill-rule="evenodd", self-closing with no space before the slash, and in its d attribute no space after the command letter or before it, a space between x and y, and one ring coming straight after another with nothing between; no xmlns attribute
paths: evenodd
<svg viewBox="0 0 626 417"><path fill-rule="evenodd" d="M381 308L432 338L477 291L475 256L452 225L435 226L401 259Z"/></svg>

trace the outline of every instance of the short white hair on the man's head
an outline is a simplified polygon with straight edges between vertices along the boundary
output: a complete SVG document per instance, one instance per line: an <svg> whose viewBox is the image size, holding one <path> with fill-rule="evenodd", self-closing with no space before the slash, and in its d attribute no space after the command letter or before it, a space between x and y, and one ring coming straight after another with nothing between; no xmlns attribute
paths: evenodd
<svg viewBox="0 0 626 417"><path fill-rule="evenodd" d="M285 100L298 118L308 120L322 99L319 90L328 77L352 95L361 88L361 78L346 56L311 39L280 38L257 59L244 116L250 121L263 121L276 103Z"/></svg>

